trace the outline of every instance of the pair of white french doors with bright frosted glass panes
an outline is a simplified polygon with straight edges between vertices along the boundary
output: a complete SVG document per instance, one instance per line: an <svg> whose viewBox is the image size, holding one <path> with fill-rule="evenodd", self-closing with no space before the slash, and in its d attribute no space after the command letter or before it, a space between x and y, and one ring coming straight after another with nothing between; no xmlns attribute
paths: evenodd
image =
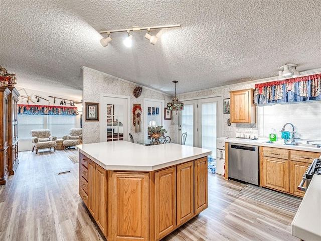
<svg viewBox="0 0 321 241"><path fill-rule="evenodd" d="M222 97L184 101L179 135L187 132L185 145L209 149L216 158L216 138L223 135Z"/></svg>

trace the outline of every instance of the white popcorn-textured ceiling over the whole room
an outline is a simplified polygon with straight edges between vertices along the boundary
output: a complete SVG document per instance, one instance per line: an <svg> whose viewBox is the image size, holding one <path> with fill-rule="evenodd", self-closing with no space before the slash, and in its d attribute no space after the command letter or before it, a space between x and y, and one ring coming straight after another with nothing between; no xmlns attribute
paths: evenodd
<svg viewBox="0 0 321 241"><path fill-rule="evenodd" d="M174 94L272 77L285 63L321 67L321 1L2 0L0 64L19 86L81 96L81 66ZM114 33L99 31L181 24ZM152 31L156 34L158 31ZM103 35L103 37L107 37ZM63 88L62 88L63 87Z"/></svg>

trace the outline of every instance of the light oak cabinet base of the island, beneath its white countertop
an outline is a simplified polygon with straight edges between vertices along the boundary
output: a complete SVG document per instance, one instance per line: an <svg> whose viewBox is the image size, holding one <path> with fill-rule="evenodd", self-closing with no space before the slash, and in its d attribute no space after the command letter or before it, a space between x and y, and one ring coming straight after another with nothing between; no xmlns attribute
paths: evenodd
<svg viewBox="0 0 321 241"><path fill-rule="evenodd" d="M142 148L122 143L126 144L117 145ZM193 148L166 145L156 148ZM100 166L100 161L79 153L79 194L107 240L161 240L207 208L210 152L206 151L194 155L196 159L190 157L190 161L153 171L108 170Z"/></svg>

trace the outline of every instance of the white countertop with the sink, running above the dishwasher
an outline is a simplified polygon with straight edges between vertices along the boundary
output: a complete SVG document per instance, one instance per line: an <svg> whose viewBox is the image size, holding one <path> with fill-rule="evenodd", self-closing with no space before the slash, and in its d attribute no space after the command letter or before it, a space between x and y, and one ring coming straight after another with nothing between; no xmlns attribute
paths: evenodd
<svg viewBox="0 0 321 241"><path fill-rule="evenodd" d="M283 149L290 149L290 150L297 150L297 151L321 153L321 148L316 148L316 147L313 147L312 145L306 145L306 146L285 145L283 144L283 140L279 140L274 143L265 143L269 141L269 139L267 138L259 138L257 140L243 139L243 138L228 138L228 139L224 139L224 141L228 143L236 143L236 144L247 144L247 145L262 146L262 147L274 147L274 148L283 148Z"/></svg>

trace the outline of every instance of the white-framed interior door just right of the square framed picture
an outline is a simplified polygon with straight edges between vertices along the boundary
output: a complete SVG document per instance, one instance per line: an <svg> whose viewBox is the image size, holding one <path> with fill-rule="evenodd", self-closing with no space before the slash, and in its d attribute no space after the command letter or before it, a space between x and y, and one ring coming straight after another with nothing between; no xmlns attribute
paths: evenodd
<svg viewBox="0 0 321 241"><path fill-rule="evenodd" d="M101 94L100 141L127 141L129 96Z"/></svg>

